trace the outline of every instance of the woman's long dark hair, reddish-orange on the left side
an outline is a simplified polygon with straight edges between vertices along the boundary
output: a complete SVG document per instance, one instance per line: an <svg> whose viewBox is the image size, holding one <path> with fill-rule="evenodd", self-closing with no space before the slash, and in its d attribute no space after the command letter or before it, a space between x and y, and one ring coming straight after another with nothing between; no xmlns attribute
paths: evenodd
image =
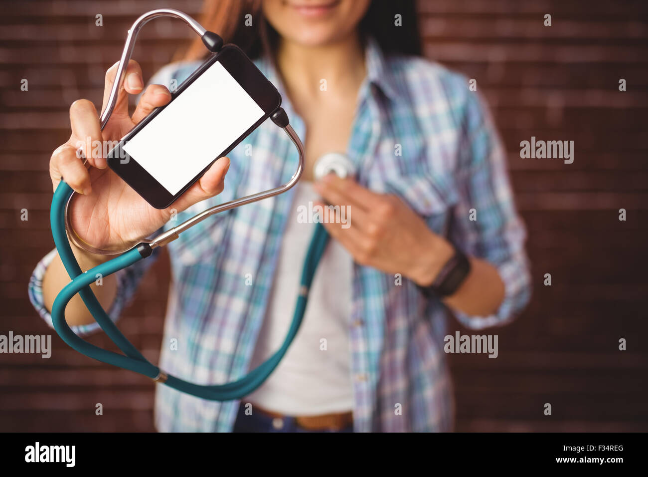
<svg viewBox="0 0 648 477"><path fill-rule="evenodd" d="M279 34L264 18L261 0L205 0L202 12L203 27L218 33L226 43L235 43L252 59L273 57ZM246 18L248 14L251 17ZM397 14L402 26L396 25ZM246 26L246 19L251 19L251 26ZM373 36L386 55L421 55L414 0L372 0L359 28L363 36ZM198 60L208 53L196 38L179 57Z"/></svg>

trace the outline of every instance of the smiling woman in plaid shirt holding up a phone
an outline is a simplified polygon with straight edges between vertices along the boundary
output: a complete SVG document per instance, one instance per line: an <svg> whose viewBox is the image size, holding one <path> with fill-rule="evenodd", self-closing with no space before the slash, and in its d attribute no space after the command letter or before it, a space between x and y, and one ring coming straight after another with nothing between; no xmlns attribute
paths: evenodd
<svg viewBox="0 0 648 477"><path fill-rule="evenodd" d="M305 138L307 167L288 193L205 221L170 243L161 369L216 384L264 360L292 317L314 228L299 220L300 207L339 205L351 225L325 223L333 239L303 326L275 373L240 402L209 402L158 386L157 428L451 430L446 314L475 329L503 324L524 308L530 288L504 151L478 96L464 77L416 56L413 2L207 1L203 25L244 47L279 88ZM54 188L65 177L82 193L73 204L73 226L88 243L130 243L292 174L296 153L269 121L167 210L148 206L91 151L83 152L92 167L82 165L78 141L117 140L167 104L165 86L194 71L205 53L198 48L190 50L190 61L156 76L161 84L146 88L131 117L128 94L144 90L132 61L103 131L92 103L72 104L72 135L52 154L50 171ZM115 69L106 75L106 92ZM314 162L330 152L347 154L356 177L329 175L313 183ZM82 269L104 260L75 253ZM113 319L151 262L94 287ZM68 280L55 251L34 272L30 296L45 319ZM78 297L66 319L78 333L97 328Z"/></svg>

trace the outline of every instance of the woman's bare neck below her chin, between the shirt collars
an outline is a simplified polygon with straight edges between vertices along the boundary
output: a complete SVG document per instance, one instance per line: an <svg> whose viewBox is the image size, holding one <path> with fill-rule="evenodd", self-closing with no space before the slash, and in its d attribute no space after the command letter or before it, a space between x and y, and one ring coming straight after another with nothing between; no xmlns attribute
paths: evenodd
<svg viewBox="0 0 648 477"><path fill-rule="evenodd" d="M330 88L341 95L355 95L366 75L364 51L357 33L316 47L281 39L277 67L288 96L304 100L321 98L321 92Z"/></svg>

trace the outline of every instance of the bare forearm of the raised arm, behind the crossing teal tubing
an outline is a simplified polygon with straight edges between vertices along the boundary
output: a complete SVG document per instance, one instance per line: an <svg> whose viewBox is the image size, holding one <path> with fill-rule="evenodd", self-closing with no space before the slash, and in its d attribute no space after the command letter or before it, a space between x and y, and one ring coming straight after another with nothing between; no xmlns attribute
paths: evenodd
<svg viewBox="0 0 648 477"><path fill-rule="evenodd" d="M105 257L81 251L75 245L72 245L72 250L75 253L79 266L84 271L96 267L100 263L106 261ZM51 312L52 304L54 304L56 295L58 295L63 287L69 284L69 282L70 277L67 275L67 271L65 271L60 256L56 254L54 260L52 260L47 267L45 276L43 276L43 302L48 311ZM117 293L117 280L114 275L104 276L101 278L100 283L101 284L98 285L97 282L95 282L91 284L90 287L104 310L108 310L113 300L115 300L115 295ZM90 312L88 312L83 300L77 294L67 304L67 308L65 308L65 321L67 321L67 324L70 326L76 326L80 324L93 323L95 319L92 317Z"/></svg>

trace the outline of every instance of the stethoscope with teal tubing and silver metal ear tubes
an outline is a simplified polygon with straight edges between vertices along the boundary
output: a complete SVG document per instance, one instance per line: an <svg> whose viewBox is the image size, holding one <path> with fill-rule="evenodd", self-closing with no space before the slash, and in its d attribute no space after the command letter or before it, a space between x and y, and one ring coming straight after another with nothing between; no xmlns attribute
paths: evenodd
<svg viewBox="0 0 648 477"><path fill-rule="evenodd" d="M119 87L124 81L124 76L126 73L126 66L132 55L133 45L135 38L139 29L147 23L149 20L159 17L172 17L179 18L183 20L189 27L191 27L196 33L198 33L207 49L212 53L216 53L220 47L222 47L223 40L217 34L213 32L206 31L197 21L188 16L187 14L180 12L179 10L173 10L171 8L160 8L158 10L152 10L146 14L143 14L128 31L128 37L126 38L126 44L124 45L124 51L122 52L121 60L119 61L119 67L117 68L117 75L115 77L115 83L113 84L112 90L110 92L110 97L108 99L108 104L106 109L102 112L100 116L100 124L103 129L108 119L115 107L117 102L117 93ZM274 369L279 364L279 361L286 354L286 350L292 343L301 321L306 310L306 305L308 301L308 290L313 280L317 265L321 256L324 252L324 249L329 241L329 234L326 232L325 228L321 223L317 223L315 230L308 246L307 258L303 264L303 270L301 274L301 281L299 286L299 294L297 296L297 302L295 304L295 311L292 317L292 322L290 323L290 328L288 333L283 341L281 347L274 353L268 360L260 364L257 368L250 371L248 374L243 376L234 382L229 382L227 384L219 385L200 385L194 384L182 380L171 374L167 374L162 371L156 365L150 363L146 358L137 350L135 347L126 339L126 337L119 331L115 323L110 319L108 314L104 311L102 306L99 304L97 297L93 293L92 289L89 287L91 283L96 280L98 274L99 276L108 276L121 269L133 265L133 263L139 262L143 258L146 258L152 254L153 249L156 247L163 247L170 243L171 241L178 238L179 234L191 228L192 226L200 223L207 217L218 214L218 212L224 212L226 210L231 210L233 208L240 207L244 204L250 204L251 202L257 202L261 199L266 199L267 197L272 197L274 195L281 194L288 191L292 186L294 186L301 174L303 172L305 159L304 159L304 148L299 140L297 134L295 134L292 127L288 123L288 117L284 112L283 108L278 108L271 116L270 119L279 127L288 134L288 137L294 143L297 151L299 151L299 163L297 164L297 170L292 175L290 180L285 184L273 188L270 190L262 191L259 193L247 195L246 197L241 197L233 201L225 202L218 206L213 206L200 212L200 214L194 215L191 219L181 223L180 225L159 234L153 239L145 239L137 245L134 245L127 250L119 251L106 251L101 249L96 249L91 247L89 244L84 243L78 236L76 236L73 228L71 227L71 221L69 216L69 204L71 198L74 195L74 191L70 186L68 186L62 179L60 184L58 184L56 191L54 191L54 197L52 198L52 206L50 212L50 221L52 226L52 236L54 237L54 244L58 250L58 254L65 266L65 269L72 279L72 281L67 284L58 294L54 304L52 306L51 316L52 324L54 325L54 330L58 336L60 336L67 345L75 349L76 351L93 358L103 363L108 363L121 367L123 369L128 369L134 371L135 373L143 374L152 380L159 382L161 384L168 385L178 391L184 393L189 393L196 397L217 400L217 401L226 401L233 399L240 399L249 395L252 391L257 389ZM347 175L353 174L353 163L344 156L343 154L330 153L322 156L314 169L314 175L316 178L323 177L328 173L336 173L341 177L346 177ZM82 272L76 258L72 252L71 246L69 244L68 238L75 243L78 247L85 249L86 251L95 253L95 254L104 254L104 255L118 255L115 258L104 262L93 269L89 269L86 272ZM118 354L116 352L108 351L102 348L99 348L95 345L87 343L84 339L77 336L71 328L68 326L65 321L65 307L69 300L72 299L76 294L79 294L86 304L87 309L93 315L99 326L106 332L106 335L119 347L119 349L124 354Z"/></svg>

